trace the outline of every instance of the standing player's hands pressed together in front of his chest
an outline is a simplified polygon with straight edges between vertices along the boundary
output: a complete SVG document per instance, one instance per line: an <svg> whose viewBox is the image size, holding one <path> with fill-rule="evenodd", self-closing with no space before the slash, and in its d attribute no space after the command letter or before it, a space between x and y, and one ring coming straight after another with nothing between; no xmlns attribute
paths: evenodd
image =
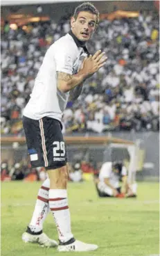
<svg viewBox="0 0 160 256"><path fill-rule="evenodd" d="M96 51L96 54L94 56L89 56L88 58L85 58L83 64L83 70L85 74L91 75L97 72L100 67L103 67L105 65L105 62L107 61L107 56L105 56L105 52L101 52L101 50Z"/></svg>

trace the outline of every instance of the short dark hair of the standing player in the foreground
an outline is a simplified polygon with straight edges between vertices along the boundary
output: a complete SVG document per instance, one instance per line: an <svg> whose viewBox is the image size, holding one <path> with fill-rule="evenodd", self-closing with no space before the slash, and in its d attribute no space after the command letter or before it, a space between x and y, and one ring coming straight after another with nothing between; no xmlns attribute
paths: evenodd
<svg viewBox="0 0 160 256"><path fill-rule="evenodd" d="M98 10L97 10L97 8L94 6L94 4L92 4L92 3L90 3L90 2L81 3L79 6L77 6L77 7L75 8L73 17L74 17L75 19L77 19L78 14L79 14L80 12L89 12L89 13L95 14L95 15L97 16L96 24L98 24L99 18L100 18L100 13L98 12Z"/></svg>

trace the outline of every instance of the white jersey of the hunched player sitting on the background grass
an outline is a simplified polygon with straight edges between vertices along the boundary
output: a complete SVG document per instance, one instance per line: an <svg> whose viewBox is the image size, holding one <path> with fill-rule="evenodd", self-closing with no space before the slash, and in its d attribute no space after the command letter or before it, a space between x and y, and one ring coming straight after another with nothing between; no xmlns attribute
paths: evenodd
<svg viewBox="0 0 160 256"><path fill-rule="evenodd" d="M121 175L123 175L123 176L127 175L127 169L125 168L125 166L123 166L123 168L122 168ZM112 162L103 163L103 166L100 169L100 173L99 173L100 182L103 182L105 184L105 182L104 182L105 178L109 179L109 183L112 186L114 186L114 188L118 188L119 175L117 175L116 173L114 173L112 171Z"/></svg>

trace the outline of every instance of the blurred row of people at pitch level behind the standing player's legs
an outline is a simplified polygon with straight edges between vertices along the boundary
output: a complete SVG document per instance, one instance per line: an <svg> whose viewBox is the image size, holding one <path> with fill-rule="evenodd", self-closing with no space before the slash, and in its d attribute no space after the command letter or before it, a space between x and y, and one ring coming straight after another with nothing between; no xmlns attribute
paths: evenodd
<svg viewBox="0 0 160 256"><path fill-rule="evenodd" d="M69 163L69 182L83 182L93 179L98 170L92 162L73 161ZM1 162L1 182L24 180L24 182L44 181L47 177L44 167L31 168L28 159L10 164L8 160Z"/></svg>

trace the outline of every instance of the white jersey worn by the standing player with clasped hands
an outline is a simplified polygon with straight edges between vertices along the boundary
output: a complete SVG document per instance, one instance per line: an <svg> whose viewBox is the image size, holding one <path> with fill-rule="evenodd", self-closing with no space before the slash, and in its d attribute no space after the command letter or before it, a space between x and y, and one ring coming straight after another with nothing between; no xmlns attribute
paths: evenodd
<svg viewBox="0 0 160 256"><path fill-rule="evenodd" d="M85 56L87 54L84 49L78 47L69 33L54 42L46 51L39 68L33 92L24 109L24 115L34 120L47 116L61 121L69 99L69 92L62 93L57 89L56 72L75 74Z"/></svg>

